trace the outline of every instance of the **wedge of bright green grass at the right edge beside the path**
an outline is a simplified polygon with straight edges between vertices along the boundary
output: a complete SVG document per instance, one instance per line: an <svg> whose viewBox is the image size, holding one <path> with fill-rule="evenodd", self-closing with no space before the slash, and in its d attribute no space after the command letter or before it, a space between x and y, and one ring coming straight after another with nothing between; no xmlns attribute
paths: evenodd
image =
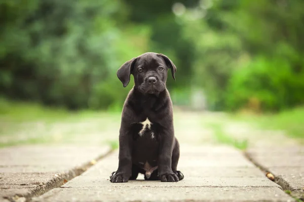
<svg viewBox="0 0 304 202"><path fill-rule="evenodd" d="M262 129L282 130L286 135L301 141L304 139L304 107L278 114L237 115L236 119L253 123Z"/></svg>

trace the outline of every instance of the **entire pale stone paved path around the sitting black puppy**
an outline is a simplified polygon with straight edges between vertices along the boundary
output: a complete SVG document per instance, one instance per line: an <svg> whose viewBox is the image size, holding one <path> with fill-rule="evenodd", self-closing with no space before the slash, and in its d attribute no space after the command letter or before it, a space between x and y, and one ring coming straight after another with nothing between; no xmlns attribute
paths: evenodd
<svg viewBox="0 0 304 202"><path fill-rule="evenodd" d="M112 184L108 180L117 169L117 151L96 161L109 151L105 144L118 140L117 120L120 116L84 118L34 133L36 127L27 126L28 134L42 134L56 140L51 143L64 145L0 149L0 201L24 201L35 194L42 195L33 201L294 201L281 186L302 197L302 145L281 131L257 130L214 113L175 113L175 135L181 142L178 168L184 180ZM256 165L243 151L223 146L210 123L233 139L248 140L246 155ZM14 137L8 132L0 142L16 137L28 138L17 130ZM272 172L279 185L265 177L265 171Z"/></svg>

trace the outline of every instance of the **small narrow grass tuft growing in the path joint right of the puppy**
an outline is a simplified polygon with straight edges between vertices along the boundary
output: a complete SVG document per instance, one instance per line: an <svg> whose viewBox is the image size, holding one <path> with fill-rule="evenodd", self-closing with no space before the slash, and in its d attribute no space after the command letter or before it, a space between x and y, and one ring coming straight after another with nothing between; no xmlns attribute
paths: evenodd
<svg viewBox="0 0 304 202"><path fill-rule="evenodd" d="M236 148L239 148L241 150L244 150L247 148L247 140L237 140L228 134L226 134L223 130L223 125L222 123L209 123L206 125L206 127L210 128L213 130L213 134L215 139L223 144L228 144L231 146L234 146Z"/></svg>

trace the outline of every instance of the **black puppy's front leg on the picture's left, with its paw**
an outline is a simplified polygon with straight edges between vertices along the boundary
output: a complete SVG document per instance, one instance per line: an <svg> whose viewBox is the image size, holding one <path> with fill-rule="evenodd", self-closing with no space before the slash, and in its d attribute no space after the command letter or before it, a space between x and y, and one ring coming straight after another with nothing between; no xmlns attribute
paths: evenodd
<svg viewBox="0 0 304 202"><path fill-rule="evenodd" d="M110 176L110 182L128 182L132 173L132 135L121 127L119 135L119 163L116 172Z"/></svg>

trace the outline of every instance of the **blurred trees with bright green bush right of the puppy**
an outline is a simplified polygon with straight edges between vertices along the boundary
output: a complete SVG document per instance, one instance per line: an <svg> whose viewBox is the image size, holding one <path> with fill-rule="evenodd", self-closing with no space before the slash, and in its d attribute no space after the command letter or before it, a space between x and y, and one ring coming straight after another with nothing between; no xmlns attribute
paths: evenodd
<svg viewBox="0 0 304 202"><path fill-rule="evenodd" d="M209 108L236 110L256 99L262 110L303 104L304 11L300 0L201 1L199 20L183 21L185 36L197 41L195 84Z"/></svg>

